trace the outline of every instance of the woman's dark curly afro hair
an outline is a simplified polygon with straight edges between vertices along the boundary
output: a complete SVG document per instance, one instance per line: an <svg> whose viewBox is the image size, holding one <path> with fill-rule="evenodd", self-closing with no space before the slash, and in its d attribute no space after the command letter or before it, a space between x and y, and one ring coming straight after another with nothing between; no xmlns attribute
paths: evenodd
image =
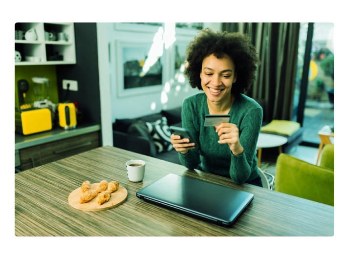
<svg viewBox="0 0 344 258"><path fill-rule="evenodd" d="M200 72L204 58L214 54L216 58L229 55L235 64L237 81L232 93L238 95L248 91L256 80L257 65L260 64L258 53L250 38L239 32L214 32L210 28L202 29L199 35L189 43L186 52L184 74L193 88L202 90Z"/></svg>

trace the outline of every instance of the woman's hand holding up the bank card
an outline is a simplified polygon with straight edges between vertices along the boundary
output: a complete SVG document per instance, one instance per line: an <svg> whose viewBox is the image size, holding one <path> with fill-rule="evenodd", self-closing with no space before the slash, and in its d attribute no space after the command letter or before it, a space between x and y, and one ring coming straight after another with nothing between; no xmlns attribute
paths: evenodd
<svg viewBox="0 0 344 258"><path fill-rule="evenodd" d="M228 143L229 148L231 149L234 155L238 156L242 152L244 152L244 148L242 148L239 141L239 129L237 129L237 125L230 123L222 123L216 127L216 132L220 137L218 143Z"/></svg>

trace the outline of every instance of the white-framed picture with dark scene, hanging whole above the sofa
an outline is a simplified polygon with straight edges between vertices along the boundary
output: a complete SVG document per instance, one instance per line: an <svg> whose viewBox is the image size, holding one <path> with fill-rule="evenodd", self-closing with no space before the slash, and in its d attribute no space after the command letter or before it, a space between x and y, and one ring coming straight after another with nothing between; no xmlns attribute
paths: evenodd
<svg viewBox="0 0 344 258"><path fill-rule="evenodd" d="M161 91L167 75L166 53L164 55L162 46L160 49L152 41L118 40L116 47L119 97Z"/></svg>

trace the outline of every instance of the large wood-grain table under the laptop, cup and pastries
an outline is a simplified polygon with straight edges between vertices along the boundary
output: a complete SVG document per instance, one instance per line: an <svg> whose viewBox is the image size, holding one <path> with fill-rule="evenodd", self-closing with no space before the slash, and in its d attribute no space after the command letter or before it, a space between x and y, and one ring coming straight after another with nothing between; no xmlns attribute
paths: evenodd
<svg viewBox="0 0 344 258"><path fill-rule="evenodd" d="M146 161L144 180L130 182L126 161ZM175 173L255 194L229 228L147 203L136 192ZM116 180L126 201L97 212L74 209L68 195L83 181ZM15 174L15 236L333 236L334 207L121 150L101 147Z"/></svg>

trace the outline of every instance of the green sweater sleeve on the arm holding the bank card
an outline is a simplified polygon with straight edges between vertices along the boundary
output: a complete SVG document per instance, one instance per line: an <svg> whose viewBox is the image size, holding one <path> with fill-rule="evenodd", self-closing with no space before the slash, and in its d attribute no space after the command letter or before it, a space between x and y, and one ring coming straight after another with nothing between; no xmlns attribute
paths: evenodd
<svg viewBox="0 0 344 258"><path fill-rule="evenodd" d="M247 180L254 179L251 175L257 166L257 162L254 162L254 159L262 118L262 109L256 108L245 115L240 125L239 141L244 152L238 156L231 153L231 166L229 170L229 174L236 184L242 184Z"/></svg>

